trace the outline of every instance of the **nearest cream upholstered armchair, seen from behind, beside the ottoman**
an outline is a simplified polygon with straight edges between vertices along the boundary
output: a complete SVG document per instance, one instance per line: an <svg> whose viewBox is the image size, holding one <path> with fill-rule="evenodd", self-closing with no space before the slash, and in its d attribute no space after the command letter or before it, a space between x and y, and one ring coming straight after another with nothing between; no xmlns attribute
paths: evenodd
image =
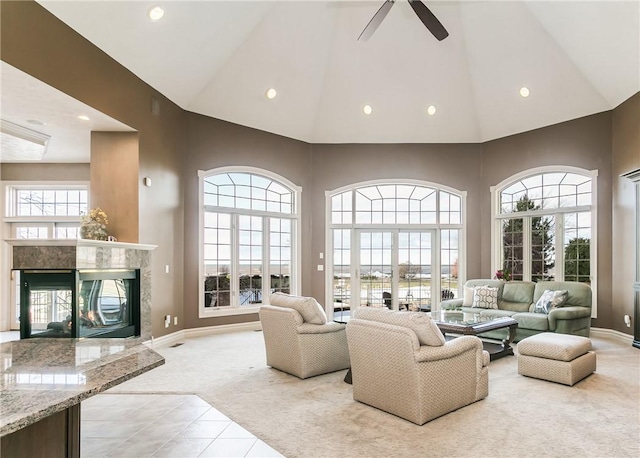
<svg viewBox="0 0 640 458"><path fill-rule="evenodd" d="M421 312L359 307L352 314L354 400L423 425L488 395L489 354L479 338L445 341Z"/></svg>

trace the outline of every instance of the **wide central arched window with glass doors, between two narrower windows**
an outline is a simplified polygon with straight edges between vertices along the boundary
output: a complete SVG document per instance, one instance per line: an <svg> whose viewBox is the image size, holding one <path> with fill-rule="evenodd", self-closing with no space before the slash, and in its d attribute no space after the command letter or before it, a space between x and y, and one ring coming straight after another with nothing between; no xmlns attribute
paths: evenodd
<svg viewBox="0 0 640 458"><path fill-rule="evenodd" d="M328 192L329 304L431 310L457 297L465 197L422 182Z"/></svg>

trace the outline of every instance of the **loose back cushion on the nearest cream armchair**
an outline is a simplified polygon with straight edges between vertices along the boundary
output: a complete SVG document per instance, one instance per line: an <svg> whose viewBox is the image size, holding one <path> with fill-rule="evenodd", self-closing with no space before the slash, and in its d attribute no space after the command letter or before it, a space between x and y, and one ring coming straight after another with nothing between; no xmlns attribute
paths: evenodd
<svg viewBox="0 0 640 458"><path fill-rule="evenodd" d="M379 307L358 307L353 311L353 318L409 328L416 333L420 345L440 347L446 342L442 331L440 331L431 317L422 312L400 312Z"/></svg>

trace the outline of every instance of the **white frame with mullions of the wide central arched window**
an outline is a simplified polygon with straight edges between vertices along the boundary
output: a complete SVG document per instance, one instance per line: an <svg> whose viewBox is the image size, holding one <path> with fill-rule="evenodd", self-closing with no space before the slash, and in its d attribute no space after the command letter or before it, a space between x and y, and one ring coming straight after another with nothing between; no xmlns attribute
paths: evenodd
<svg viewBox="0 0 640 458"><path fill-rule="evenodd" d="M369 186L385 186L385 185L408 185L408 186L419 186L425 188L431 188L436 191L435 205L436 205L436 222L435 223L358 223L356 222L356 201L355 195L356 191L361 188L366 188ZM332 199L334 196L337 196L345 191L352 191L352 219L350 223L333 223L332 219ZM440 192L446 192L449 194L453 194L456 197L460 198L460 223L440 223ZM333 301L331 300L333 297L333 231L335 229L348 229L350 231L351 243L350 246L352 249L359 246L355 240L358 233L361 230L367 231L430 231L434 234L432 239L432 250L434 252L433 255L433 264L437 265L437 269L440 272L441 268L441 251L442 251L442 231L443 230L458 230L459 231L459 239L458 239L458 297L462 297L462 287L464 282L466 281L466 271L467 271L467 249L466 249L466 240L467 240L467 191L462 191L459 189L452 188L450 186L446 186L440 183L434 183L431 181L423 181L423 180L413 180L413 179L405 179L405 180L397 180L397 179L379 179L379 180L368 180L362 181L358 183L352 183L346 186L342 186L340 188L332 189L325 191L325 310L328 316L333 316ZM397 249L397 248L396 248ZM356 258L358 259L358 254L356 254ZM354 254L351 253L351 260L353 262ZM356 267L351 268L351 276L354 276L354 270ZM432 287L434 290L441 291L441 276L436 276L433 279ZM440 294L434 295L432 294L432 302L431 302L431 310L437 311L440 307Z"/></svg>

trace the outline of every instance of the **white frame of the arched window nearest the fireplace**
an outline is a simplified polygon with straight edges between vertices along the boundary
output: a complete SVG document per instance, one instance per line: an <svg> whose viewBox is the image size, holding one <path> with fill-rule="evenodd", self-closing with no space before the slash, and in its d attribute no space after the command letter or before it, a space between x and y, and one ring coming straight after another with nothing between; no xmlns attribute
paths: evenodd
<svg viewBox="0 0 640 458"><path fill-rule="evenodd" d="M291 284L290 290L291 294L298 294L300 291L301 284L301 244L300 244L300 236L302 233L301 230L301 215L300 215L300 202L302 200L302 188L288 179L284 178L281 175L278 175L269 170L250 167L250 166L225 166L218 167L209 170L198 170L198 318L213 318L219 316L234 316L234 315L246 315L252 313L258 313L260 309L260 304L256 306L225 306L224 308L214 308L214 307L205 307L205 297L204 297L204 279L205 279L205 267L204 267L204 214L205 214L205 204L204 204L204 180L205 178L213 175L223 174L223 173L248 173L253 175L259 175L269 180L273 180L274 182L285 186L289 190L291 190L293 194L293 203L292 203L292 212L291 213L278 213L278 212L270 212L270 211L262 211L262 210L252 210L246 208L232 208L232 207L215 207L217 208L218 213L228 213L231 215L232 222L237 221L239 215L249 215L249 216L260 216L260 217L273 217L279 219L290 219L293 224L293 228L291 231L292 240L291 240ZM263 228L268 226L263 219ZM232 225L232 247L234 244L237 244L237 241L234 241L236 237L236 232L238 228L233 227ZM263 230L263 250L267 250L269 247L268 237L269 230ZM263 251L264 253L264 251ZM232 254L232 266L231 272L235 272L237 270L237 253ZM263 257L263 262L268 261L268 255L266 258ZM264 273L266 275L267 272ZM264 278L263 275L263 278ZM265 297L263 294L263 299L266 300L268 297Z"/></svg>

